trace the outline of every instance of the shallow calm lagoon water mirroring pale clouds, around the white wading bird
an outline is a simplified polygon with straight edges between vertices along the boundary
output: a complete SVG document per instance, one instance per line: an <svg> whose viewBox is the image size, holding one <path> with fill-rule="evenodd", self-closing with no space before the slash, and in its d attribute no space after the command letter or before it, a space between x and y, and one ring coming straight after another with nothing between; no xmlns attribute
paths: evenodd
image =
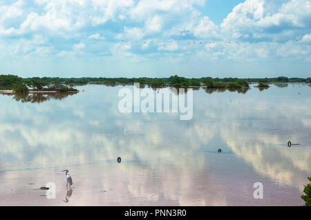
<svg viewBox="0 0 311 220"><path fill-rule="evenodd" d="M0 95L0 205L303 205L310 86L194 90L190 121L178 113L122 114L120 88L81 86L85 92L41 102ZM288 148L288 141L300 145ZM55 199L39 190L48 182L56 184ZM263 199L253 197L256 182Z"/></svg>

